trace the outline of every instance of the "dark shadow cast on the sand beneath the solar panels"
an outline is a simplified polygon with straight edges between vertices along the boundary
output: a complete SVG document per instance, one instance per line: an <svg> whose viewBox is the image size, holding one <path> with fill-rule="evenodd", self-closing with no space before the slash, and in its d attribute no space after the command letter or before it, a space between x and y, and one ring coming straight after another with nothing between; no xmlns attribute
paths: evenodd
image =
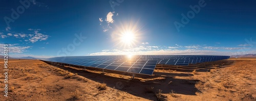
<svg viewBox="0 0 256 101"><path fill-rule="evenodd" d="M89 71L81 71L77 69L72 69L62 65L55 65L48 63L50 65L56 66L59 69L69 71L71 73L77 73L79 76L85 77L87 79L105 83L108 87L119 89L121 91L133 94L135 96L143 97L146 99L156 100L155 92L158 89L162 90L162 93L170 93L172 90L178 94L185 95L196 95L196 92L200 92L195 84L199 80L187 80L187 79L177 79L175 76L187 77L193 76L191 74L176 74L176 73L162 73L155 72L153 76L148 75L135 75L135 79L124 79L119 77L112 77L105 75L104 73L98 74ZM88 68L87 68L88 69ZM90 68L89 68L90 69ZM90 69L91 70L91 69ZM106 73L116 73L115 71L107 71ZM131 75L129 73L117 73L122 75ZM144 80L142 80L144 79ZM147 93L146 88L154 87L153 93Z"/></svg>

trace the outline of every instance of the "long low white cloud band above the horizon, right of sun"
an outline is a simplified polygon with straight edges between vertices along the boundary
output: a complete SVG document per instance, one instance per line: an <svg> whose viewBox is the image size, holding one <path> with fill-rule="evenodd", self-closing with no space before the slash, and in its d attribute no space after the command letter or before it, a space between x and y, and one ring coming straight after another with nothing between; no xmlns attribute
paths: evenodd
<svg viewBox="0 0 256 101"><path fill-rule="evenodd" d="M182 49L188 48L188 49ZM239 50L240 47L201 47L201 46L138 46L130 49L113 49L102 50L101 52L91 53L90 55L232 55L233 51L218 51L224 50ZM251 53L247 51L247 53Z"/></svg>

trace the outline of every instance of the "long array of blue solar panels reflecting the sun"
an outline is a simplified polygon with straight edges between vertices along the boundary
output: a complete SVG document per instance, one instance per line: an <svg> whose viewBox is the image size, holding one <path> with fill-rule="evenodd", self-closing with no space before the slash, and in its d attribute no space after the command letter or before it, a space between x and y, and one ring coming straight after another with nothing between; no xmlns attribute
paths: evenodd
<svg viewBox="0 0 256 101"><path fill-rule="evenodd" d="M209 55L108 55L108 56L67 56L42 59L72 65L152 75L156 64L188 65L200 62L228 59L229 56Z"/></svg>

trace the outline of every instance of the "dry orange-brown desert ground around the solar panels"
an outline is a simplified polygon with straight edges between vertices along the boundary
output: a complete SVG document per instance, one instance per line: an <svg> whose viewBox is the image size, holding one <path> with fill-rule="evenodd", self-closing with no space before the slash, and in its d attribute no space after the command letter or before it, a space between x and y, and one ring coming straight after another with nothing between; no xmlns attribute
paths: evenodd
<svg viewBox="0 0 256 101"><path fill-rule="evenodd" d="M153 76L132 79L128 73L11 59L8 97L3 68L0 100L256 100L255 65L256 58L158 65Z"/></svg>

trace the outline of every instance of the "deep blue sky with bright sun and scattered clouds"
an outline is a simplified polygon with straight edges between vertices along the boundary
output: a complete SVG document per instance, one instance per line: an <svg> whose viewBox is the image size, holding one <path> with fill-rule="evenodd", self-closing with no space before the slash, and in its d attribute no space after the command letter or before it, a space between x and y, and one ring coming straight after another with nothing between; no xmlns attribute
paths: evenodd
<svg viewBox="0 0 256 101"><path fill-rule="evenodd" d="M11 57L256 53L255 1L21 2L0 3Z"/></svg>

